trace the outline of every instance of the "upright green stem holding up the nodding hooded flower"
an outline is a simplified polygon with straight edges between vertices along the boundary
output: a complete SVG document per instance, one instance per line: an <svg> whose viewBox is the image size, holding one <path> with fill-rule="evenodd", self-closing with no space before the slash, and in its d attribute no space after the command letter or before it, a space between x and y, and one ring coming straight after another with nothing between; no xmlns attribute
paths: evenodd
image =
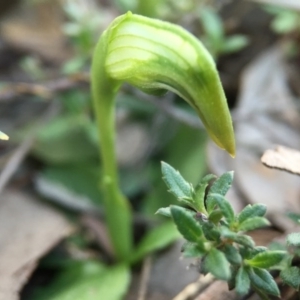
<svg viewBox="0 0 300 300"><path fill-rule="evenodd" d="M92 93L100 140L104 208L110 240L117 260L126 260L132 249L132 212L119 188L115 154L115 95L119 84L104 70L105 36L96 46L92 63Z"/></svg>

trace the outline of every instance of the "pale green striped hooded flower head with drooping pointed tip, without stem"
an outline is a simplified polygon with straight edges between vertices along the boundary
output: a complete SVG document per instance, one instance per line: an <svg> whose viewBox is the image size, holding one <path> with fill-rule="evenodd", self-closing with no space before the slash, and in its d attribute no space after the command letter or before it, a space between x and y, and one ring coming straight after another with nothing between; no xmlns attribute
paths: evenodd
<svg viewBox="0 0 300 300"><path fill-rule="evenodd" d="M112 22L101 40L96 52L105 57L108 79L150 94L178 94L197 111L214 142L235 155L232 120L218 72L197 38L177 25L128 12Z"/></svg>

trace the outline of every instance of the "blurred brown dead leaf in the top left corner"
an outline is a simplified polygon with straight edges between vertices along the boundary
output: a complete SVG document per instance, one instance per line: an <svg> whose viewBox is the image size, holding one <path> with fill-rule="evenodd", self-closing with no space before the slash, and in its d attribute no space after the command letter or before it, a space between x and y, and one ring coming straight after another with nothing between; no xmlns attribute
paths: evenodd
<svg viewBox="0 0 300 300"><path fill-rule="evenodd" d="M58 1L23 4L0 24L0 34L12 47L62 62L70 56L62 32L63 15Z"/></svg>

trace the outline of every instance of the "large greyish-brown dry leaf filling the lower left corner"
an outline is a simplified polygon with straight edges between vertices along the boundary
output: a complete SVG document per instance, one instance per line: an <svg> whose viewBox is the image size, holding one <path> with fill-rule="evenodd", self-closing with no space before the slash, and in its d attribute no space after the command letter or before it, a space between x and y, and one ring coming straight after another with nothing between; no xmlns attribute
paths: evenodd
<svg viewBox="0 0 300 300"><path fill-rule="evenodd" d="M29 195L0 196L0 300L17 300L37 261L72 232L64 217Z"/></svg>

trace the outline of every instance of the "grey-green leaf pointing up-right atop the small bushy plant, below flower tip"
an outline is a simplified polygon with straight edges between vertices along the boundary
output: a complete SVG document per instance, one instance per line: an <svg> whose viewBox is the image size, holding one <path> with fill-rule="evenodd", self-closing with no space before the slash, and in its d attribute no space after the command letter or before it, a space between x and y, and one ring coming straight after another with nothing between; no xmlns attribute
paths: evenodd
<svg viewBox="0 0 300 300"><path fill-rule="evenodd" d="M216 205L215 200L210 197L211 194L220 194L225 196L228 190L230 189L233 181L233 171L224 173L215 182L212 184L211 188L208 191L206 198L206 208L209 213L211 213Z"/></svg>

